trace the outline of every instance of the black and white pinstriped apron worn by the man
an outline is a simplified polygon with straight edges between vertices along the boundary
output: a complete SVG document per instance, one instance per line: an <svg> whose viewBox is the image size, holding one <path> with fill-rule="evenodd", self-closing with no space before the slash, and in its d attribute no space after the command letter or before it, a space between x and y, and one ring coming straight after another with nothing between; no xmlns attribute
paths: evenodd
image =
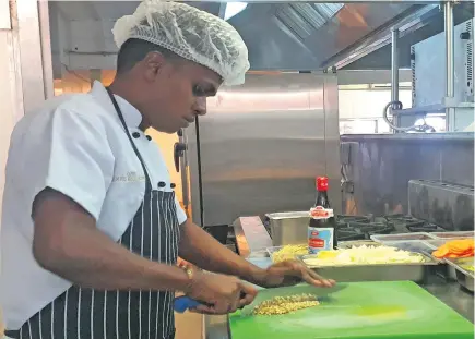
<svg viewBox="0 0 475 339"><path fill-rule="evenodd" d="M143 202L119 242L151 261L175 265L180 235L175 192L165 192L164 182L152 186L120 108L110 92L109 96L145 173ZM99 291L72 286L20 330L5 335L19 339L171 339L174 296L173 292Z"/></svg>

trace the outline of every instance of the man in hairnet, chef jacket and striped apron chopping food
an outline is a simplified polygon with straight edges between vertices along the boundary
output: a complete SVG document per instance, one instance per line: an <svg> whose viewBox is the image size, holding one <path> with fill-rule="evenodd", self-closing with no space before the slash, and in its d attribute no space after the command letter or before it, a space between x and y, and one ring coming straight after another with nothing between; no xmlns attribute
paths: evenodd
<svg viewBox="0 0 475 339"><path fill-rule="evenodd" d="M176 133L222 84L244 82L238 33L192 7L147 1L114 35L108 88L48 100L13 131L1 229L7 336L174 338L176 291L201 302L194 312L225 314L252 302L250 283L331 287L295 262L256 267L187 220L144 134ZM178 267L178 255L209 273Z"/></svg>

